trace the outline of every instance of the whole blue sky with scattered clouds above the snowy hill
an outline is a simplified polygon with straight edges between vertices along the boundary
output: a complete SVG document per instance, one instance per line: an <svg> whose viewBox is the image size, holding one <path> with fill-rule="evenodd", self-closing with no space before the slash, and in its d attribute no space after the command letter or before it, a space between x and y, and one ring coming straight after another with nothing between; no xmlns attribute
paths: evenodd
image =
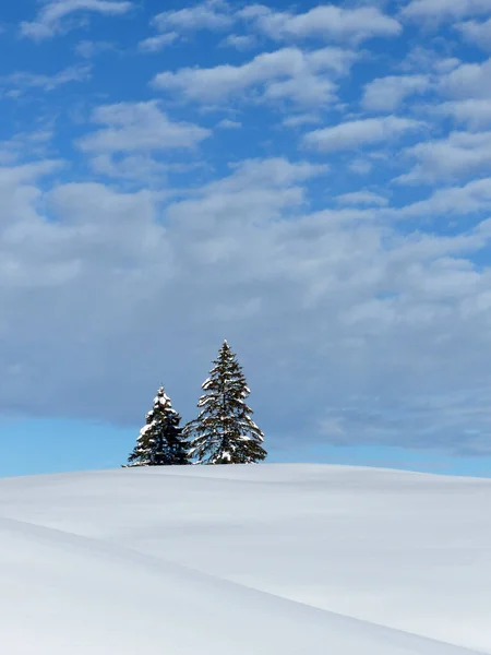
<svg viewBox="0 0 491 655"><path fill-rule="evenodd" d="M161 9L0 9L0 475L117 466L224 338L272 461L490 475L489 0Z"/></svg>

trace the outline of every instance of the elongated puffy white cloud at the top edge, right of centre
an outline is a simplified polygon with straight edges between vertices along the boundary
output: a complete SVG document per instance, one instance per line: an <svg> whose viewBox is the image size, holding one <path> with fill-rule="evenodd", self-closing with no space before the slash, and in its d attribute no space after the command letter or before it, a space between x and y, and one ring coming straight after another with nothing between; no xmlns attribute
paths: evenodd
<svg viewBox="0 0 491 655"><path fill-rule="evenodd" d="M399 23L375 7L346 9L334 4L320 5L302 14L275 12L261 4L246 7L239 16L275 40L322 38L355 41L374 36L395 36Z"/></svg>

